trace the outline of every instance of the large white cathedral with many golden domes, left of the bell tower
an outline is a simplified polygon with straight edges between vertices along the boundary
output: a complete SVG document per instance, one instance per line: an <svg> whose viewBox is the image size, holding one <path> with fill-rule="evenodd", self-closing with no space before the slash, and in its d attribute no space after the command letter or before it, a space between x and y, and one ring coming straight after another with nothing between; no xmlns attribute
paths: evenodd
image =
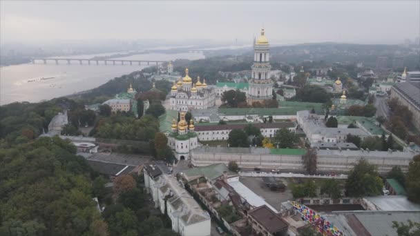
<svg viewBox="0 0 420 236"><path fill-rule="evenodd" d="M185 69L185 77L173 83L169 104L171 110L189 111L191 109L207 109L216 104L216 90L213 86L207 86L206 80L193 83Z"/></svg>

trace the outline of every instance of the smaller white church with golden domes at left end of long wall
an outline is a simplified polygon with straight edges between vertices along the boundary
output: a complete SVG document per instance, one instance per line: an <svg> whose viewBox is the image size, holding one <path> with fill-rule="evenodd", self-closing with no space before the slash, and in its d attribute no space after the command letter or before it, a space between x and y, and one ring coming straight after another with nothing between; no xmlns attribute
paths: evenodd
<svg viewBox="0 0 420 236"><path fill-rule="evenodd" d="M185 112L180 112L180 121L172 120L171 133L168 135L168 144L175 150L177 159L189 159L189 151L198 146L198 137L195 133L193 119L187 124Z"/></svg>

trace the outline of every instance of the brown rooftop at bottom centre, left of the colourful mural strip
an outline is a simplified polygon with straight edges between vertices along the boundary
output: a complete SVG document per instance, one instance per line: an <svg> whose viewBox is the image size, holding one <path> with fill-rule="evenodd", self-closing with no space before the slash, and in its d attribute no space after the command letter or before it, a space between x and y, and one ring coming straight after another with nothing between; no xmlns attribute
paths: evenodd
<svg viewBox="0 0 420 236"><path fill-rule="evenodd" d="M288 228L287 223L266 205L249 211L248 215L253 217L269 233L274 234Z"/></svg>

